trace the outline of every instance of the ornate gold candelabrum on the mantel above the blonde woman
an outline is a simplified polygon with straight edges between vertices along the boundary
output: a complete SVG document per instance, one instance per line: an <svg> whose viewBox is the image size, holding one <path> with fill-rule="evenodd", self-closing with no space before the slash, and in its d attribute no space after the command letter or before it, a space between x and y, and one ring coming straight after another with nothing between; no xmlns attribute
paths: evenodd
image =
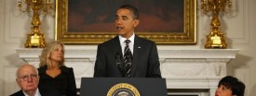
<svg viewBox="0 0 256 96"><path fill-rule="evenodd" d="M24 9L22 3L26 6ZM33 18L31 22L31 33L27 34L27 41L25 43L26 48L42 48L45 47L45 35L41 32L41 21L39 18L39 11L43 11L48 14L49 11L53 10L53 4L49 0L23 0L18 1L18 6L22 12L30 12L33 10Z"/></svg>

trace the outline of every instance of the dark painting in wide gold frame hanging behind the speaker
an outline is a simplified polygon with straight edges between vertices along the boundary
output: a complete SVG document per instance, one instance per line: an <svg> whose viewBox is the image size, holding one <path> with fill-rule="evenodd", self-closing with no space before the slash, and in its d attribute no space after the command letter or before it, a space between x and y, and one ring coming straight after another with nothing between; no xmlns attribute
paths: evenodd
<svg viewBox="0 0 256 96"><path fill-rule="evenodd" d="M55 40L99 44L116 36L115 11L139 9L135 34L156 44L196 43L196 0L56 0Z"/></svg>

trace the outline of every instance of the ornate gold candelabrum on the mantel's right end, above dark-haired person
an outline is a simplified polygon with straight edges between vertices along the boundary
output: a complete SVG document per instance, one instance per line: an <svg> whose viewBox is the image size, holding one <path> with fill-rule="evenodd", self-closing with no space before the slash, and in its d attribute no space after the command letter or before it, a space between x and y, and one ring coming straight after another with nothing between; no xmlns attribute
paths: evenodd
<svg viewBox="0 0 256 96"><path fill-rule="evenodd" d="M201 0L201 9L205 15L212 16L210 22L210 33L207 36L205 48L222 48L225 49L225 34L221 31L221 22L219 13L227 13L231 11L230 0Z"/></svg>

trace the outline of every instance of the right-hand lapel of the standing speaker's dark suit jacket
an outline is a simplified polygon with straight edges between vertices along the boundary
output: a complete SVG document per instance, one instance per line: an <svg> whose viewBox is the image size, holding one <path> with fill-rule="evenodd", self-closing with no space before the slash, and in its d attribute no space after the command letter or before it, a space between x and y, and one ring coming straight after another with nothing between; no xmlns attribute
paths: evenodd
<svg viewBox="0 0 256 96"><path fill-rule="evenodd" d="M137 66L140 63L140 56L141 56L140 50L141 50L140 37L135 35L134 45L133 45L133 60L132 60L132 66L131 66L131 77L134 77L135 72L137 70Z"/></svg>

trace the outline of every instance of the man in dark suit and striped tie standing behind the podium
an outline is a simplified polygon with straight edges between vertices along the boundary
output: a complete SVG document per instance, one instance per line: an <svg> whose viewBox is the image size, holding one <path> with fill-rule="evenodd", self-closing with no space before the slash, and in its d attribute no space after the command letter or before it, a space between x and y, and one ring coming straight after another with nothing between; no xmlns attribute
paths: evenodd
<svg viewBox="0 0 256 96"><path fill-rule="evenodd" d="M155 42L134 33L139 23L139 12L136 7L124 5L117 9L115 28L118 36L98 45L94 77L161 78ZM125 42L127 40L128 43ZM127 52L130 53L128 56ZM127 61L130 61L129 68L126 65Z"/></svg>

